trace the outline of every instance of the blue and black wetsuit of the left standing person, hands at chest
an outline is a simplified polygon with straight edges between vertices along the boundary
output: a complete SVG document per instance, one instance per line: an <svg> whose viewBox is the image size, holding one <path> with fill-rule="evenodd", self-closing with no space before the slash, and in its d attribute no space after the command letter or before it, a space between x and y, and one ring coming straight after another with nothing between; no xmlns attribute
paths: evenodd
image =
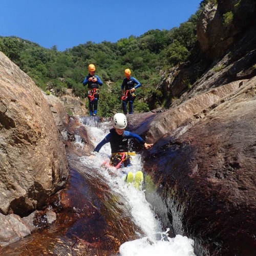
<svg viewBox="0 0 256 256"><path fill-rule="evenodd" d="M90 77L95 77L97 78L96 82L89 81ZM88 84L88 99L89 99L89 110L90 110L90 115L92 116L93 114L97 114L97 109L98 109L98 99L99 99L99 85L102 86L102 81L97 75L88 75L86 78L84 78L82 84L86 86ZM93 95L94 90L96 89L94 93L94 99L91 100L91 96Z"/></svg>

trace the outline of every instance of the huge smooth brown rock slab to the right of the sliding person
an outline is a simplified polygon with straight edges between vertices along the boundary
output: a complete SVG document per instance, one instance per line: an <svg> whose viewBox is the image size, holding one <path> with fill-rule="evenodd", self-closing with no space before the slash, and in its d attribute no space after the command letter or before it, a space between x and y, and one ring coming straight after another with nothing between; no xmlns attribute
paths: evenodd
<svg viewBox="0 0 256 256"><path fill-rule="evenodd" d="M239 84L158 113L144 132L155 142L145 153L154 181L147 198L177 233L195 239L196 253L255 251L256 77Z"/></svg>

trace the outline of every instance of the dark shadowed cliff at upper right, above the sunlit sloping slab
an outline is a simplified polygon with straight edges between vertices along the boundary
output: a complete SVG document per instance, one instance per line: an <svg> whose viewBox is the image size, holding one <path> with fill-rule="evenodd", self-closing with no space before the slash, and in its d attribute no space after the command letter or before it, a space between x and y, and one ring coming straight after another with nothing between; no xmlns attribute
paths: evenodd
<svg viewBox="0 0 256 256"><path fill-rule="evenodd" d="M169 95L167 104L175 106L192 94L255 76L255 17L253 0L207 4L198 20L198 41L189 61L165 74L157 88ZM156 101L151 99L150 105Z"/></svg>

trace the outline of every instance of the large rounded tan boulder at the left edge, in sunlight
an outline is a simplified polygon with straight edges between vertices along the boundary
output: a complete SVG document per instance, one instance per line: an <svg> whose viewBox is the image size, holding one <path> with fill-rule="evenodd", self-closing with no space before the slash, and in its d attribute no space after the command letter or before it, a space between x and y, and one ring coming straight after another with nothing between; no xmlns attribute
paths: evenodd
<svg viewBox="0 0 256 256"><path fill-rule="evenodd" d="M27 215L68 178L66 152L35 83L0 52L0 212Z"/></svg>

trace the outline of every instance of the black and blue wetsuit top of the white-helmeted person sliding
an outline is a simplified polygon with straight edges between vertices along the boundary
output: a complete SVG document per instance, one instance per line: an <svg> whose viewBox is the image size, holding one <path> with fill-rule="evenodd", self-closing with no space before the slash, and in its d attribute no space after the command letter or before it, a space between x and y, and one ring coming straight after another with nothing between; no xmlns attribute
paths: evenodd
<svg viewBox="0 0 256 256"><path fill-rule="evenodd" d="M111 153L128 152L128 139L132 138L138 140L141 144L145 143L145 141L135 133L124 131L122 135L118 135L116 130L112 128L110 133L95 147L94 151L99 152L103 145L110 142Z"/></svg>

